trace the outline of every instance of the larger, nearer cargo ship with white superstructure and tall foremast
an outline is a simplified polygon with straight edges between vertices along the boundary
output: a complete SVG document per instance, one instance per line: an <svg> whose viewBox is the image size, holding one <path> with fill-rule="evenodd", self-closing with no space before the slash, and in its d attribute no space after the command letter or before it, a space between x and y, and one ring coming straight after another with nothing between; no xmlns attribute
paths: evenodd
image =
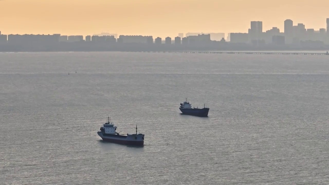
<svg viewBox="0 0 329 185"><path fill-rule="evenodd" d="M120 135L120 132L116 132L116 126L111 122L110 117L103 126L101 126L100 130L97 132L99 137L103 139L103 141L116 143L121 145L144 145L144 134L137 134L137 124L136 124L136 134L127 134Z"/></svg>

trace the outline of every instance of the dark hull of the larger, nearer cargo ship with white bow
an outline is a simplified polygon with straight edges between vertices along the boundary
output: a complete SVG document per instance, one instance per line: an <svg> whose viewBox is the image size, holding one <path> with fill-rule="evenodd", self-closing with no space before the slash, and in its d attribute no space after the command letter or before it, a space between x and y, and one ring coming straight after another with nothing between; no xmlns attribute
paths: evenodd
<svg viewBox="0 0 329 185"><path fill-rule="evenodd" d="M103 134L102 132L97 133L103 141L116 143L120 145L134 145L134 146L143 146L144 145L144 135L143 134L132 134L129 137L124 135L111 135ZM136 139L135 139L136 138Z"/></svg>

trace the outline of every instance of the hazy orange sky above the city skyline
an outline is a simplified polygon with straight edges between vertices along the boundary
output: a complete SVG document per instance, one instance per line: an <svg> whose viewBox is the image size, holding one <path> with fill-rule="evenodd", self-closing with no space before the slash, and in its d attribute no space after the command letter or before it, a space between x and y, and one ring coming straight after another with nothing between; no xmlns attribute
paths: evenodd
<svg viewBox="0 0 329 185"><path fill-rule="evenodd" d="M250 21L263 31L292 19L306 28L326 27L329 1L297 0L4 0L3 34L119 35L175 37L187 32L247 32Z"/></svg>

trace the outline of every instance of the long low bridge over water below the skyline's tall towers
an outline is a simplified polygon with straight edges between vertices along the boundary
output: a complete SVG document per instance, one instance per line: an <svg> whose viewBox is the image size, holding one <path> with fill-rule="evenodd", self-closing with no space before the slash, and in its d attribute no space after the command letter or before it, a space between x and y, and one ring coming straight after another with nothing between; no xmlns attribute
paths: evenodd
<svg viewBox="0 0 329 185"><path fill-rule="evenodd" d="M267 54L267 55L329 55L324 53L308 52L260 52L260 51L141 51L143 53L209 53L209 54Z"/></svg>

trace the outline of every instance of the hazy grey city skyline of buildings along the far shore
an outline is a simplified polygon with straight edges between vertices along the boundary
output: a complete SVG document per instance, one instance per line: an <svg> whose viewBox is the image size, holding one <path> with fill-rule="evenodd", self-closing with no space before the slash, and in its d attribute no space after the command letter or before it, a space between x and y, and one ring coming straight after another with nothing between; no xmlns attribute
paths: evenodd
<svg viewBox="0 0 329 185"><path fill-rule="evenodd" d="M25 51L239 51L329 49L326 28L305 29L303 23L284 21L284 30L263 30L262 21L251 21L246 33L178 33L160 38L101 33L94 35L13 35L0 31L0 52Z"/></svg>

